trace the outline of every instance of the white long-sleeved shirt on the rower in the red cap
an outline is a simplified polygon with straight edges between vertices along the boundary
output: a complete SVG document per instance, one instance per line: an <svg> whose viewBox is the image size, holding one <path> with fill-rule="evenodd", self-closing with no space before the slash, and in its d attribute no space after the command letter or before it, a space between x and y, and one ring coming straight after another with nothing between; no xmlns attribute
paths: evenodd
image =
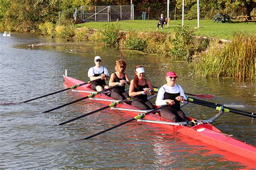
<svg viewBox="0 0 256 170"><path fill-rule="evenodd" d="M173 87L168 86L167 84L164 84L164 86L160 87L157 94L157 100L156 105L164 105L166 104L166 100L164 100L164 93L180 93L180 96L183 96L185 100L187 100L187 97L183 91L183 88L179 86L178 84L175 84Z"/></svg>

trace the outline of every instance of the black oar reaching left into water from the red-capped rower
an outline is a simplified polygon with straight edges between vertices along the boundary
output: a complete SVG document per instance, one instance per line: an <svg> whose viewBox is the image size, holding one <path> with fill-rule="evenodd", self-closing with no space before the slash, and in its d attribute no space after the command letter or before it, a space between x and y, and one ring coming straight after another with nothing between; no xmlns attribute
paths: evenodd
<svg viewBox="0 0 256 170"><path fill-rule="evenodd" d="M163 108L167 107L168 105L170 105L170 103L169 103L169 104L162 105L162 106L159 107L159 108L153 109L153 110L151 110L150 112L147 112L146 114L145 114L145 113L140 113L138 116L136 116L136 117L130 119L129 121L125 121L125 122L120 123L120 124L118 124L118 125L116 125L116 126L113 126L112 128L106 129L106 130L104 130L104 131L98 132L98 133L93 134L93 135L91 135L91 136L89 136L89 137L86 137L86 138L84 138L84 139L79 139L79 140L90 139L90 138L92 138L92 137L98 136L99 134L105 133L105 132L110 131L110 130L112 130L112 129L118 128L119 126L122 126L122 125L124 125L124 124L130 123L130 122L132 122L132 121L136 121L137 119L141 119L141 118L145 117L146 115L149 115L149 114L152 114L152 113L154 113L154 112L157 112L158 110L163 109Z"/></svg>

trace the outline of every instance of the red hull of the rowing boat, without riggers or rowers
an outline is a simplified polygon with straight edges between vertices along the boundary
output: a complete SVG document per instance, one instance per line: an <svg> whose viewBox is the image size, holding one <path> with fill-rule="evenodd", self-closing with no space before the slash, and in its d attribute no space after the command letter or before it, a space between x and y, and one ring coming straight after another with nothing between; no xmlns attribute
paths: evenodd
<svg viewBox="0 0 256 170"><path fill-rule="evenodd" d="M65 84L67 86L72 86L74 84L83 83L83 81L79 81L77 79L73 79L72 77L68 77L68 76L64 76L64 79L65 79ZM90 84L86 84L84 86L78 87L77 90L86 90L86 91L95 92L94 90L90 89ZM86 95L88 95L88 93ZM96 97L113 100L113 98L106 96L104 94L99 94ZM107 103L107 104L109 104L109 103ZM137 109L138 110L138 108L135 108L132 105L129 105L126 103L119 104L117 106L117 108ZM126 114L129 114L131 116L137 116L138 112L125 111ZM149 120L153 120L153 121L170 122L169 120L164 119L159 116L156 116L154 114L147 115L145 117L145 119L149 119ZM188 119L193 119L193 118L188 117ZM177 131L177 132L183 133L186 136L190 136L195 139L201 140L204 143L211 144L215 147L221 148L222 150L225 150L225 151L228 151L231 153L235 153L244 158L248 158L253 161L256 161L256 147L255 146L246 144L245 142L242 142L238 139L232 138L228 134L222 133L219 129L215 128L212 124L199 124L199 125L193 126L192 128L190 128L188 126L174 126L174 125L167 125L167 124L157 124L157 125L164 126L165 128L171 129L172 131Z"/></svg>

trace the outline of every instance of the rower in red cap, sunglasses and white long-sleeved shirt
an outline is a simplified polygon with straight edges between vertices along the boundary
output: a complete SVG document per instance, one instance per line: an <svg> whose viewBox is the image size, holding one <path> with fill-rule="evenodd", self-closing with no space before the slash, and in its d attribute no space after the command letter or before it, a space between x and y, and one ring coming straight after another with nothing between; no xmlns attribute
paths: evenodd
<svg viewBox="0 0 256 170"><path fill-rule="evenodd" d="M165 76L166 84L160 87L157 94L156 105L171 103L169 107L161 110L161 117L173 122L186 122L186 115L180 109L180 101L187 100L183 88L176 84L178 76L175 72L167 72Z"/></svg>

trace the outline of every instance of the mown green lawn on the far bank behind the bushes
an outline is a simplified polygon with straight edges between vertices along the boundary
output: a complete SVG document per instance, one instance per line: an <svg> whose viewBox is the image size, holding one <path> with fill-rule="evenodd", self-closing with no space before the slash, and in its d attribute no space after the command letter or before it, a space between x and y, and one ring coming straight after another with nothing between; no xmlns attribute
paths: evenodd
<svg viewBox="0 0 256 170"><path fill-rule="evenodd" d="M158 31L158 32L173 32L174 27L181 25L181 20L170 20L169 27L164 26L163 30L156 30L157 20L125 20L119 21L120 29L136 30L136 31ZM101 29L105 24L116 22L87 22L77 24L77 27L85 26L88 29ZM185 20L184 25L194 29L197 27L197 20ZM200 28L196 29L195 34L198 36L217 37L223 39L232 39L233 34L238 31L256 33L256 22L247 23L213 23L212 20L200 20Z"/></svg>

